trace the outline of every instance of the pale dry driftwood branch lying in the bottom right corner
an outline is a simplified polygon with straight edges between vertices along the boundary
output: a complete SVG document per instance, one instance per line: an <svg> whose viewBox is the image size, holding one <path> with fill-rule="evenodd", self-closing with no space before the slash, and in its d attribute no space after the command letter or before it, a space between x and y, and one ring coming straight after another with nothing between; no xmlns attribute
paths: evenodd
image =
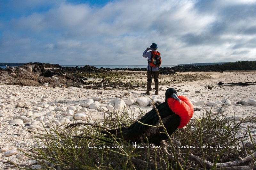
<svg viewBox="0 0 256 170"><path fill-rule="evenodd" d="M252 154L252 156L255 157L256 152L254 152ZM253 159L252 156L250 155L250 156L245 157L244 159L236 160L236 161L233 161L233 162L226 162L226 163L217 164L217 168L224 168L224 167L231 167L231 166L235 166L235 167L243 166L243 165L251 162L251 160ZM195 161L197 164L203 165L203 160L201 158L199 158L198 156L195 156L191 153L188 154L188 159ZM209 161L205 161L205 166L207 168L212 168L213 163L209 162Z"/></svg>

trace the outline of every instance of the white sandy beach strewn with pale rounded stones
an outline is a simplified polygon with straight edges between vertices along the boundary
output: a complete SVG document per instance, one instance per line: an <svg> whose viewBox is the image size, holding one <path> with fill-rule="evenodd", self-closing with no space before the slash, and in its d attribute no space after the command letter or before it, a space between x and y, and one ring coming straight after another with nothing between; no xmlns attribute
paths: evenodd
<svg viewBox="0 0 256 170"><path fill-rule="evenodd" d="M174 87L179 90L178 95L184 95L191 100L194 108L207 110L212 108L212 112L217 113L224 101L228 99L221 112L228 113L231 117L235 114L235 119L256 113L256 85L217 85L219 82L251 82L252 84L256 82L256 71L182 72L177 74L206 74L212 78L160 85L162 88L159 95L150 97L153 97L154 100L164 101L165 90ZM164 81L164 78L171 76L160 76L159 81ZM146 82L146 75L144 80ZM211 86L212 89L208 89L208 86ZM35 144L35 140L31 137L33 132L29 133L29 129L44 133L42 125L64 126L65 123L74 123L74 116L76 116L76 122L86 122L91 115L91 123L93 123L93 120L109 115L111 109L118 111L124 105L127 109L130 108L136 112L139 109L135 101L142 105L141 109L147 112L152 106L147 106L150 102L149 98L141 95L145 90L143 87L138 87L135 90L97 90L77 87L0 85L0 169L10 165L5 163L4 159L11 160L16 164L38 166L35 161L28 159L18 150L28 142L32 145ZM91 101L93 104L90 103ZM193 117L200 115L201 112L196 111ZM252 133L256 133L256 129L252 128Z"/></svg>

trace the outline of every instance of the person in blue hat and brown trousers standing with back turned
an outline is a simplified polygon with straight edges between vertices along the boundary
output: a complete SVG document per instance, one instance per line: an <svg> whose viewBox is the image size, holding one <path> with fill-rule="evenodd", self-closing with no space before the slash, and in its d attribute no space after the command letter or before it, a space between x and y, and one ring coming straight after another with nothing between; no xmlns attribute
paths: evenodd
<svg viewBox="0 0 256 170"><path fill-rule="evenodd" d="M158 67L152 67L150 65L151 60L152 60L152 55L153 54L158 54L161 56L161 53L157 51L157 44L156 43L152 43L152 45L150 46L150 48L148 47L142 54L142 56L144 58L148 58L148 67L147 67L147 92L143 93L146 95L150 95L150 92L152 90L151 88L151 82L152 79L154 78L154 82L155 82L155 94L158 94L158 90L159 90L159 82L158 82L158 78L159 78L159 74L160 74L160 68ZM161 59L161 58L160 58Z"/></svg>

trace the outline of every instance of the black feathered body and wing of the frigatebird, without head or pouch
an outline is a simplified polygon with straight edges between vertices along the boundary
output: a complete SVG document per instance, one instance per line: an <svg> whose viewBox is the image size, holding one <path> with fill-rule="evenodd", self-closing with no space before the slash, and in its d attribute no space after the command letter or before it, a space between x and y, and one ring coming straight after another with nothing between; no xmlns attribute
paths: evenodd
<svg viewBox="0 0 256 170"><path fill-rule="evenodd" d="M180 124L180 117L175 115L172 110L169 108L166 102L161 103L156 106L156 109L159 112L159 115L164 123L164 126L168 127L168 133L171 135ZM138 121L134 122L129 128L122 127L122 135L120 133L120 129L112 129L101 131L101 133L109 136L109 133L113 134L118 138L124 137L124 140L132 142L140 143L141 140L147 142L146 137L149 142L159 144L162 140L167 139L167 136L162 133L158 133L159 131L163 132L162 127L150 127L143 124L148 125L158 125L159 118L156 112L156 109L153 108L148 113L146 113L143 117L141 117ZM141 123L143 124L141 124ZM155 137L156 136L156 137ZM158 138L158 139L157 139Z"/></svg>

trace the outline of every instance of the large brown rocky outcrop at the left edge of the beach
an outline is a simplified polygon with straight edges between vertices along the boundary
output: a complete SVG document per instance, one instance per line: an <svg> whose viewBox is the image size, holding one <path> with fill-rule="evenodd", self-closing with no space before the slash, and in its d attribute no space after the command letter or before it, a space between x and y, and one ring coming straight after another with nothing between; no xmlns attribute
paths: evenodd
<svg viewBox="0 0 256 170"><path fill-rule="evenodd" d="M49 67L61 68L58 64L28 63L0 70L0 82L7 85L26 86L41 86L48 82L49 87L82 85L81 80L72 75L66 78L58 71L45 69Z"/></svg>

